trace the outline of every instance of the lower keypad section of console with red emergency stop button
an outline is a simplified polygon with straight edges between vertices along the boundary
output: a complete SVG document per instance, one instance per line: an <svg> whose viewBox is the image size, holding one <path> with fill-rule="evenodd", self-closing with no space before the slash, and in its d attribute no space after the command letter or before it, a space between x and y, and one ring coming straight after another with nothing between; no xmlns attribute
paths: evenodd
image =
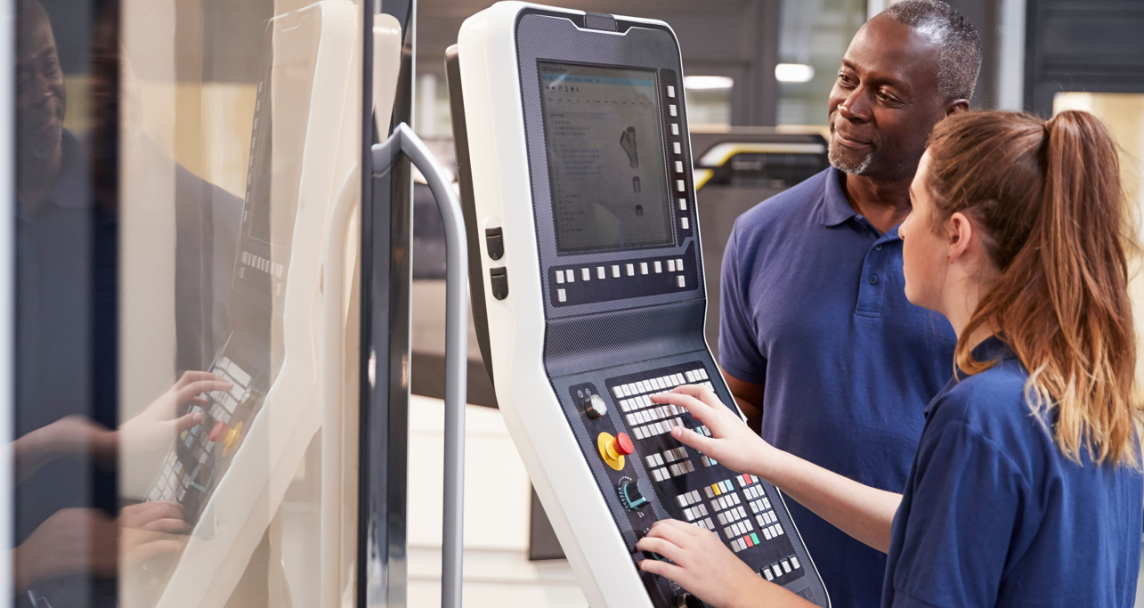
<svg viewBox="0 0 1144 608"><path fill-rule="evenodd" d="M686 410L651 400L684 384L721 392L700 361L605 377L602 391L595 383L569 386L570 405L606 401L614 408L614 415L606 418L587 415L582 408L569 407L566 413L570 423L582 425L583 434L595 440L596 449L586 449L585 456L598 457L614 472L599 481L615 488L622 507L617 515L633 531L633 557L660 559L636 552L634 544L656 520L673 518L718 535L758 576L782 585L797 582L807 575L807 553L791 537L793 525L777 490L754 475L728 470L670 435L673 427L683 426L710 437Z"/></svg>

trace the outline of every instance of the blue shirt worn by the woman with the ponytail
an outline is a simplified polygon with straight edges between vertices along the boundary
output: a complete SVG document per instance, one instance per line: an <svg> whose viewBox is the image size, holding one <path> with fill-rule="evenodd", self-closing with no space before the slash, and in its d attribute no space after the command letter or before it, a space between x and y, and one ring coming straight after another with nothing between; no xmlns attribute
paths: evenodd
<svg viewBox="0 0 1144 608"><path fill-rule="evenodd" d="M1031 416L1012 351L994 337L974 355L999 363L925 409L882 606L1130 608L1144 478L1066 458Z"/></svg>

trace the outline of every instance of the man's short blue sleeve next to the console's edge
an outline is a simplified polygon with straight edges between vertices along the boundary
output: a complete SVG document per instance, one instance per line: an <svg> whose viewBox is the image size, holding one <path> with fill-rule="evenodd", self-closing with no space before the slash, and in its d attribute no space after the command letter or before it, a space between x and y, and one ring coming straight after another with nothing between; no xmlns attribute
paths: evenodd
<svg viewBox="0 0 1144 608"><path fill-rule="evenodd" d="M739 231L734 223L731 239L723 254L722 286L720 290L718 361L728 374L744 382L763 384L766 379L766 359L758 352L754 317L750 314L749 281L744 280L739 264Z"/></svg>

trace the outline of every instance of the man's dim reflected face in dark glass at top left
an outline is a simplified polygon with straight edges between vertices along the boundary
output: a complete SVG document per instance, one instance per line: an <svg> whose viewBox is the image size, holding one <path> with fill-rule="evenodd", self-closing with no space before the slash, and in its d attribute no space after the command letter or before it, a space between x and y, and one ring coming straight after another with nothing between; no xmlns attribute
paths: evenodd
<svg viewBox="0 0 1144 608"><path fill-rule="evenodd" d="M34 2L17 19L16 130L24 158L49 158L59 147L64 125L64 73L47 14Z"/></svg>

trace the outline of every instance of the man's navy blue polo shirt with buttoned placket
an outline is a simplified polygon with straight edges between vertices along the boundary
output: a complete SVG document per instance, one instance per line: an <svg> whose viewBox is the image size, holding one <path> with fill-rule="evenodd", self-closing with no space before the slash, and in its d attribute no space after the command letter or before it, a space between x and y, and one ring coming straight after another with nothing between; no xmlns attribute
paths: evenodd
<svg viewBox="0 0 1144 608"><path fill-rule="evenodd" d="M898 230L857 215L829 168L736 222L723 258L720 365L762 384L763 439L900 493L954 335L906 301ZM834 606L877 606L885 555L801 505L791 514Z"/></svg>

